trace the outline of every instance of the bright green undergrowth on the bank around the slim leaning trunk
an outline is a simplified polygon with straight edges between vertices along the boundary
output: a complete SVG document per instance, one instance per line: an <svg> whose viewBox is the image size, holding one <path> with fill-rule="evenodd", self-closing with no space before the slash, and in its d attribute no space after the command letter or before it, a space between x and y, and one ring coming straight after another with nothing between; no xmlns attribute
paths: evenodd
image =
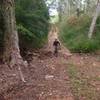
<svg viewBox="0 0 100 100"><path fill-rule="evenodd" d="M60 26L60 39L72 52L89 53L100 49L100 18L97 21L97 28L92 39L88 39L91 18L72 16Z"/></svg>

